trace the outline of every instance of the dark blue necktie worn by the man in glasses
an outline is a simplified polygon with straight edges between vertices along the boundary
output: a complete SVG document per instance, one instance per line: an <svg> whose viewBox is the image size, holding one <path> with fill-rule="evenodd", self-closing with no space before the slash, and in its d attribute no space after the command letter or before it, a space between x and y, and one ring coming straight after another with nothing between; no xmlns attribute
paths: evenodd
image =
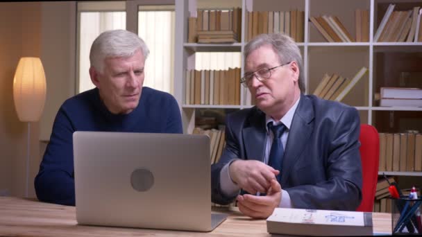
<svg viewBox="0 0 422 237"><path fill-rule="evenodd" d="M280 173L277 175L277 180L281 180L281 168L282 168L282 157L285 153L285 150L282 148L281 143L281 134L285 131L285 125L280 123L279 125L273 125L273 122L268 124L269 129L273 132L273 144L271 145L271 150L269 152L268 165L273 167L276 170L280 170Z"/></svg>

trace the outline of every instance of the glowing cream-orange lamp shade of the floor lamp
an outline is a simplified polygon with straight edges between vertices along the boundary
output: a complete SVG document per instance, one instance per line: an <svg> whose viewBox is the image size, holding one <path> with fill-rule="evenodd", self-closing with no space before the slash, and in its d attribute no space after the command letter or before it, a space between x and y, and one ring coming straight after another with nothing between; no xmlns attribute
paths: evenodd
<svg viewBox="0 0 422 237"><path fill-rule="evenodd" d="M13 78L13 99L20 121L40 120L46 98L46 84L40 58L25 57L19 60Z"/></svg>

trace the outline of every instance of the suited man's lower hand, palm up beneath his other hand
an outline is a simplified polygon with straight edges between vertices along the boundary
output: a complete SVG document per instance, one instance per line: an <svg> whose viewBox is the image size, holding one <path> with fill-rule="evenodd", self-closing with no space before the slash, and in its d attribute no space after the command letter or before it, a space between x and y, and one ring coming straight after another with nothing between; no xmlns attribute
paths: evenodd
<svg viewBox="0 0 422 237"><path fill-rule="evenodd" d="M239 211L251 218L268 218L278 207L281 200L281 186L276 179L271 179L271 186L266 196L250 194L239 195L236 198Z"/></svg>

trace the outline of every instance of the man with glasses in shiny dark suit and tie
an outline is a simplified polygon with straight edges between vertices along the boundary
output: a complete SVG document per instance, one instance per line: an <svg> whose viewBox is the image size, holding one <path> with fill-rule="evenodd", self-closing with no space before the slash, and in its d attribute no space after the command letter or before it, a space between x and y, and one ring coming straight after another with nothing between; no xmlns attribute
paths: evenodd
<svg viewBox="0 0 422 237"><path fill-rule="evenodd" d="M256 106L226 117L212 201L237 200L253 218L276 207L355 211L362 200L357 110L303 94L301 52L286 35L258 35L244 56L242 84Z"/></svg>

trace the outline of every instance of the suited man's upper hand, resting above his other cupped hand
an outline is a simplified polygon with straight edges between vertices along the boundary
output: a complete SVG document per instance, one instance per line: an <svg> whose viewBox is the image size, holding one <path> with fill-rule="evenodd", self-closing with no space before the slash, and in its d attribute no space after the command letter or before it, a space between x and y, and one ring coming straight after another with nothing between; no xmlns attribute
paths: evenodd
<svg viewBox="0 0 422 237"><path fill-rule="evenodd" d="M271 179L276 179L280 171L257 160L236 160L228 167L230 177L240 188L255 194L265 193Z"/></svg>

